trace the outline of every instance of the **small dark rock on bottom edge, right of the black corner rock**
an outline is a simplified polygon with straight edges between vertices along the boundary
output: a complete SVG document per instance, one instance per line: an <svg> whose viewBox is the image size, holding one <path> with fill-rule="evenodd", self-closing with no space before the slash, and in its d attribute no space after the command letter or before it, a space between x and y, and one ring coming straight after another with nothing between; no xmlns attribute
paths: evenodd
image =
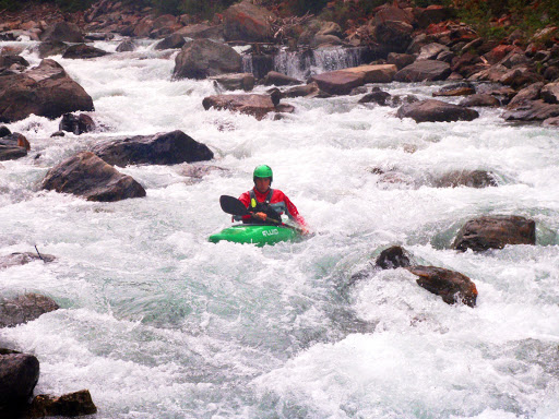
<svg viewBox="0 0 559 419"><path fill-rule="evenodd" d="M60 397L47 394L35 396L25 416L28 419L38 419L50 416L75 417L96 412L97 407L93 403L90 391L81 390Z"/></svg>

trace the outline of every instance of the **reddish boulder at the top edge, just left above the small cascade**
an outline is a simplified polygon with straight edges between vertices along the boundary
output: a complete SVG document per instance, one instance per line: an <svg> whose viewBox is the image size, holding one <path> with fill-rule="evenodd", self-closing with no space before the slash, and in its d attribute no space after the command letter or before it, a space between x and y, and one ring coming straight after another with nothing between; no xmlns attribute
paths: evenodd
<svg viewBox="0 0 559 419"><path fill-rule="evenodd" d="M257 43L272 40L274 34L270 22L275 17L266 9L243 0L223 13L225 39Z"/></svg>

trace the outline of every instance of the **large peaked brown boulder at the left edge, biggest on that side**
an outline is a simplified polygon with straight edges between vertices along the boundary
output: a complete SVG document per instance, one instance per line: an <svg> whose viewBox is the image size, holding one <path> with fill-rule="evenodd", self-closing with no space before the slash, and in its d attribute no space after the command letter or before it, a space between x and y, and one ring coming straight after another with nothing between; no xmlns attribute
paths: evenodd
<svg viewBox="0 0 559 419"><path fill-rule="evenodd" d="M55 119L75 110L94 110L93 100L53 60L0 77L0 122L19 121L31 113Z"/></svg>

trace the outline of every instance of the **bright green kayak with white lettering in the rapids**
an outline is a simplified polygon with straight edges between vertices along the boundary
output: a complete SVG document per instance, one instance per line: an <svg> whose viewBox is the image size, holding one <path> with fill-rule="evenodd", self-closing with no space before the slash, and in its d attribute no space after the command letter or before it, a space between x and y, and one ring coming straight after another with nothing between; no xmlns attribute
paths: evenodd
<svg viewBox="0 0 559 419"><path fill-rule="evenodd" d="M295 240L299 237L299 232L289 227L241 224L212 235L209 240L213 243L226 240L235 243L264 246Z"/></svg>

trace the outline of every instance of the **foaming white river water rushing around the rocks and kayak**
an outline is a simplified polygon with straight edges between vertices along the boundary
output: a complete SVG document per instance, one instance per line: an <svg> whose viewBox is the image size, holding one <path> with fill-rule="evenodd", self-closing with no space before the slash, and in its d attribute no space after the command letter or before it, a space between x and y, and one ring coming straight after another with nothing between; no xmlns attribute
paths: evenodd
<svg viewBox="0 0 559 419"><path fill-rule="evenodd" d="M17 45L39 62L34 43ZM557 130L506 123L497 109L417 124L359 96L290 99L293 115L257 121L205 111L215 87L173 82L174 57L150 43L53 57L93 97L99 129L51 139L60 119L8 124L33 148L0 166L0 254L37 246L57 256L0 272L2 297L39 292L61 306L0 330L0 346L39 359L35 394L88 388L98 419L559 416ZM419 98L440 87L382 86ZM144 199L93 203L39 188L50 167L99 141L174 130L215 159L120 169ZM230 224L218 196L248 190L260 164L314 235L264 248L207 242ZM432 185L472 169L499 187ZM450 249L466 220L495 214L533 218L536 246ZM404 270L352 279L393 244L471 277L477 307L445 304Z"/></svg>

